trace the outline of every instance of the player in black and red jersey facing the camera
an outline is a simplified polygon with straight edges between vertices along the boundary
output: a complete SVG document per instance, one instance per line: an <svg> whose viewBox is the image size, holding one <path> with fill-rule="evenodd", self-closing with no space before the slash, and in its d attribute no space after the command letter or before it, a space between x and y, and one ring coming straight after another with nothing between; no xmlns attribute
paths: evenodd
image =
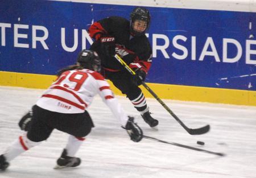
<svg viewBox="0 0 256 178"><path fill-rule="evenodd" d="M88 32L94 39L90 49L96 51L102 59L102 75L126 94L150 127L156 127L158 120L151 117L146 99L138 87L145 80L151 66L152 49L145 35L149 26L149 11L136 7L130 14L130 21L110 16L94 22ZM115 53L136 72L135 76L119 64L113 57Z"/></svg>

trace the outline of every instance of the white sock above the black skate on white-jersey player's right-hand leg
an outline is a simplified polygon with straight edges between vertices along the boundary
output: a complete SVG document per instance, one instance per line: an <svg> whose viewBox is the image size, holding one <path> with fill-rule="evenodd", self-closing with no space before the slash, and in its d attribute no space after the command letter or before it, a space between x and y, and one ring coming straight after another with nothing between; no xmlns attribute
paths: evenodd
<svg viewBox="0 0 256 178"><path fill-rule="evenodd" d="M82 142L85 138L75 137L73 135L69 135L68 143L65 149L67 150L67 156L73 157L76 155L76 152L79 150Z"/></svg>

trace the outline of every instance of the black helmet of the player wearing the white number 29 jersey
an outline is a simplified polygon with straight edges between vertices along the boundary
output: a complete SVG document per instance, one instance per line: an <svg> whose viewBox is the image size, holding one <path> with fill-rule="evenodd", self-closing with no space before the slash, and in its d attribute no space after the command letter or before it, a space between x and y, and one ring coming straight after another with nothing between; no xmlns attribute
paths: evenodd
<svg viewBox="0 0 256 178"><path fill-rule="evenodd" d="M95 51L82 49L77 57L77 63L85 69L96 72L101 71L101 59Z"/></svg>

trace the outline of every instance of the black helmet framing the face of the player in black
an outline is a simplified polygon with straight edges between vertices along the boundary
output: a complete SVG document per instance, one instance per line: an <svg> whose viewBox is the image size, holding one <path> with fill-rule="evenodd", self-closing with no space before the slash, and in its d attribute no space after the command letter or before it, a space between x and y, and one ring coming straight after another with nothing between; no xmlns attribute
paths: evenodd
<svg viewBox="0 0 256 178"><path fill-rule="evenodd" d="M147 22L147 28L143 32L138 32L133 29L133 23L135 20L143 20ZM147 31L148 27L150 26L150 13L147 9L143 7L136 7L130 14L130 30L131 34L134 34L136 36L140 36L144 34L145 31Z"/></svg>

